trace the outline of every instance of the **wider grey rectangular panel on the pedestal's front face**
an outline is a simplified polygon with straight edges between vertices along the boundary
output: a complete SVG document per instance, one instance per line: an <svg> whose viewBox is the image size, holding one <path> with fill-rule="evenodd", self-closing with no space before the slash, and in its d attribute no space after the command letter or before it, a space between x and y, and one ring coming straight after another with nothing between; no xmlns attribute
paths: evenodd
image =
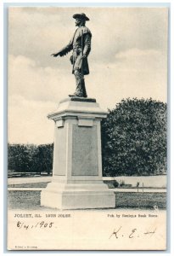
<svg viewBox="0 0 174 256"><path fill-rule="evenodd" d="M97 126L72 127L72 176L98 175Z"/></svg>

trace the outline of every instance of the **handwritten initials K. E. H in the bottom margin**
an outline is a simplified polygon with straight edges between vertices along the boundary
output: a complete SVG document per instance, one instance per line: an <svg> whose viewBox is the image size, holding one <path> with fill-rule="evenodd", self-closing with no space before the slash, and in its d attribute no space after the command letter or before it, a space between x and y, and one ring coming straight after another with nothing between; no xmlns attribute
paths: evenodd
<svg viewBox="0 0 174 256"><path fill-rule="evenodd" d="M109 236L109 239L111 237L115 237L116 239L118 238L121 238L121 237L124 237L125 235L121 232L121 229L122 227L120 227L118 230L114 230L111 235ZM150 236L153 236L154 234L156 233L156 228L154 230L150 230L150 231L147 231L147 232L143 232L143 236L147 236L147 235L150 235ZM134 238L134 237L139 237L139 232L138 232L138 229L132 229L127 235L126 237L128 238Z"/></svg>

